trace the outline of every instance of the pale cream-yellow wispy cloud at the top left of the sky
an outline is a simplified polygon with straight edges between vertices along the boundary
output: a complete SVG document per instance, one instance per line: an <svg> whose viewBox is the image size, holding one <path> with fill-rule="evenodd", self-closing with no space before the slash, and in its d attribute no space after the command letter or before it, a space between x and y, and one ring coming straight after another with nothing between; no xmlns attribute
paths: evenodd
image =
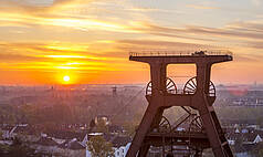
<svg viewBox="0 0 263 157"><path fill-rule="evenodd" d="M103 1L103 0L102 0ZM0 23L6 27L63 27L81 31L102 30L112 32L136 33L133 29L133 22L128 19L108 20L107 18L98 20L94 12L74 12L82 6L90 7L90 1L84 0L56 0L50 7L24 7L24 2L2 1L6 6L0 7ZM22 3L22 4L21 4ZM1 2L0 2L1 4ZM12 12L11 12L12 10ZM102 10L104 12L105 10Z"/></svg>

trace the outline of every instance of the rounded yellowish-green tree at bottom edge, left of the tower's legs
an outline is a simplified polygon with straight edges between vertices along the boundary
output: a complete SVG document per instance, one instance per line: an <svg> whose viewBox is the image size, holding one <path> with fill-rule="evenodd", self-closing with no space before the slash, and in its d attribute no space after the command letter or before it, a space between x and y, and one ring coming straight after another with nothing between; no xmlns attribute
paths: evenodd
<svg viewBox="0 0 263 157"><path fill-rule="evenodd" d="M103 136L94 136L87 142L87 148L92 157L114 157L112 144L106 142Z"/></svg>

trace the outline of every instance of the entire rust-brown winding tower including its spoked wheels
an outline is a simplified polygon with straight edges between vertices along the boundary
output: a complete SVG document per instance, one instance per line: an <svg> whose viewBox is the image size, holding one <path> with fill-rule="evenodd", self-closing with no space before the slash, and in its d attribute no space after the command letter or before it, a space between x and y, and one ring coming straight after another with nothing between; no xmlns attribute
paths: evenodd
<svg viewBox="0 0 263 157"><path fill-rule="evenodd" d="M194 157L201 157L206 148L212 148L215 157L233 157L212 106L215 101L215 87L210 81L212 64L232 61L231 53L221 51L132 52L129 60L148 63L151 81L146 90L149 105L126 157L146 157L150 146L162 146L164 157L168 154L165 147L169 145L171 145L172 154L173 146L186 146L194 151L191 155ZM176 84L167 77L168 64L196 64L197 74L186 83L183 92L178 93ZM172 106L181 106L188 114L178 119L173 126L162 116L164 111ZM186 119L191 121L189 129L177 130L177 127L186 123Z"/></svg>

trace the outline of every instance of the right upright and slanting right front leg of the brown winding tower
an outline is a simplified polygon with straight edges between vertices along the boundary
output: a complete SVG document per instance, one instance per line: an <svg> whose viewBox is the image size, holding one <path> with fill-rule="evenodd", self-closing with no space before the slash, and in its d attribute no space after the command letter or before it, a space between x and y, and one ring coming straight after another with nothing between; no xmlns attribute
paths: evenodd
<svg viewBox="0 0 263 157"><path fill-rule="evenodd" d="M203 127L215 157L233 157L212 104L208 102L211 63L197 65L197 101ZM201 100L200 100L201 98Z"/></svg>

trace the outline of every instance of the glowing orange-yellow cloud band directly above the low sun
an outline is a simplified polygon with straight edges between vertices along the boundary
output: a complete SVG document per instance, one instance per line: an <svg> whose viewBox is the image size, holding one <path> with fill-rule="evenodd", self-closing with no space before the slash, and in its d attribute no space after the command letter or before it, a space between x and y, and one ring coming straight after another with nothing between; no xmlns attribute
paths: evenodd
<svg viewBox="0 0 263 157"><path fill-rule="evenodd" d="M1 70L122 71L125 59L101 56L70 43L1 43ZM62 46L64 45L64 48ZM81 49L80 49L81 48ZM54 51L55 50L55 51ZM109 64L115 61L115 64Z"/></svg>

